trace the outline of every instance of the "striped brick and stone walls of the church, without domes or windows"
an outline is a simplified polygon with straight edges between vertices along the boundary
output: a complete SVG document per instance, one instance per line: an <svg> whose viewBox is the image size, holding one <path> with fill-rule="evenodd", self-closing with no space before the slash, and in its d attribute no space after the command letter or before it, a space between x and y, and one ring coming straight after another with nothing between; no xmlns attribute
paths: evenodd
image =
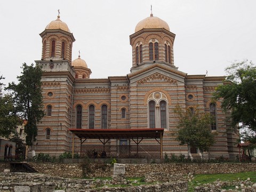
<svg viewBox="0 0 256 192"><path fill-rule="evenodd" d="M58 33L57 33L58 32ZM46 57L36 61L43 67L42 87L43 103L46 116L38 124L36 152L59 155L72 150L73 135L69 128L77 128L77 106L82 107L81 129L89 129L90 111L94 106L94 129L102 129L102 105L107 106L107 129L145 129L149 127L149 101L156 103L156 125L160 125L159 103L166 102L166 128L163 136L163 154L187 154L187 146L180 146L175 140L177 135L177 118L174 109L179 105L186 109L193 107L210 113L212 93L221 85L225 77L207 77L205 75L188 75L174 66L173 43L175 34L164 28L141 29L130 36L132 46L131 73L126 76L108 78L90 78L90 69L72 67L70 57L66 59L48 58L51 36L59 35L56 50L60 49L61 39L67 38L73 43L74 37L67 31L47 31L45 38ZM53 37L52 36L52 37ZM60 42L58 42L60 41ZM158 43L158 60L150 60L149 43ZM166 45L165 45L166 44ZM137 62L137 46L142 45L142 60ZM170 46L170 51L165 50ZM70 46L71 47L71 46ZM44 47L43 47L44 49ZM67 55L71 50L67 48ZM43 50L44 52L44 50ZM59 52L59 51L58 51ZM59 53L58 53L59 54ZM166 54L170 60L166 61ZM154 56L156 57L156 56ZM86 78L76 77L79 73L89 74ZM83 71L84 70L84 71ZM89 73L90 72L90 73ZM52 94L50 94L52 93ZM211 147L211 154L238 154L236 139L238 130L231 130L227 121L229 114L221 109L221 101L215 102L217 129L216 143ZM47 106L51 106L51 115L47 116ZM125 111L125 114L123 114ZM125 116L125 117L124 117ZM157 126L156 126L157 127ZM46 130L50 129L47 137ZM210 128L209 128L210 129ZM132 141L127 141L132 144ZM142 145L151 145L153 140L143 140ZM99 140L86 140L85 145L101 145ZM106 145L120 145L117 139L109 140ZM75 139L75 153L80 153L80 141Z"/></svg>

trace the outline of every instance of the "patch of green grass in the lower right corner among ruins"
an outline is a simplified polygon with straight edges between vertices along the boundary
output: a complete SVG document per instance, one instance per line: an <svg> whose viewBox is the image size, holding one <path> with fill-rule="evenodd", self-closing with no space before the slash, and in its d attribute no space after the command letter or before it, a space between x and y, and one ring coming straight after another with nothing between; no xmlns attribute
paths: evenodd
<svg viewBox="0 0 256 192"><path fill-rule="evenodd" d="M256 171L228 174L197 174L194 175L194 178L191 182L188 182L188 191L194 191L194 187L201 186L205 183L213 183L218 179L221 181L234 181L239 178L239 180L244 181L250 178L250 181L256 183ZM235 186L229 186L223 189L235 189Z"/></svg>

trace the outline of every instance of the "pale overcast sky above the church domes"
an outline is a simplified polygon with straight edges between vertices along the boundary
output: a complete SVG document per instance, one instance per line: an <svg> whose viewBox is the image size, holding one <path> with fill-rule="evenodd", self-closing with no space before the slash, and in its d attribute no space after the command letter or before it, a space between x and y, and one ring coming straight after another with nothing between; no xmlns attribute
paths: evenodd
<svg viewBox="0 0 256 192"><path fill-rule="evenodd" d="M235 60L256 62L254 0L13 0L0 6L0 74L17 82L21 65L41 59L45 27L66 22L76 41L73 60L81 52L91 78L124 76L132 66L130 35L137 23L153 14L166 21L174 41L174 65L189 75L226 75Z"/></svg>

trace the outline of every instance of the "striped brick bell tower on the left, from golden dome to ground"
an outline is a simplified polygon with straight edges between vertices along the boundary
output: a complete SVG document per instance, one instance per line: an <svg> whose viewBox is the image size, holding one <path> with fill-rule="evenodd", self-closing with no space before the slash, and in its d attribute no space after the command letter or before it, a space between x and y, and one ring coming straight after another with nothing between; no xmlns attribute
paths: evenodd
<svg viewBox="0 0 256 192"><path fill-rule="evenodd" d="M51 21L39 34L42 37L42 94L45 116L37 125L36 153L59 156L71 150L71 111L75 70L71 67L75 38L65 22Z"/></svg>

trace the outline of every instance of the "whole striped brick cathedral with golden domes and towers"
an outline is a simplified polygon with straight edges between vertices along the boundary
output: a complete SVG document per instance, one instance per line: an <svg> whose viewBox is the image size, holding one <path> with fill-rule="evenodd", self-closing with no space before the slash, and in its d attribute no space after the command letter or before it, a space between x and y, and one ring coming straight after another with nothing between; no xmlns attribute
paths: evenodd
<svg viewBox="0 0 256 192"><path fill-rule="evenodd" d="M221 109L221 101L212 100L215 87L223 84L225 77L188 75L179 71L174 65L175 34L164 20L151 13L135 26L130 35L131 70L126 76L90 78L92 71L81 55L75 60L71 58L75 37L60 20L60 15L39 35L42 37L42 58L35 62L43 70L45 116L38 124L37 154L58 156L73 151L82 155L95 149L100 152L102 145L107 155L117 150L111 146L136 145L137 153L140 146L139 150L147 150L144 154L150 154L159 148L141 146L160 143L159 157L163 158L163 154L187 155L188 147L179 145L176 140L178 120L174 109L178 105L182 109L205 111L215 118L209 129L218 135L209 154L238 154L239 130L231 129L227 121L229 114ZM107 136L109 131L115 130L120 132ZM140 130L145 132L135 133ZM161 142L158 136L147 137L152 130L161 132ZM89 131L94 137L88 136L86 132ZM198 152L191 148L191 153Z"/></svg>

